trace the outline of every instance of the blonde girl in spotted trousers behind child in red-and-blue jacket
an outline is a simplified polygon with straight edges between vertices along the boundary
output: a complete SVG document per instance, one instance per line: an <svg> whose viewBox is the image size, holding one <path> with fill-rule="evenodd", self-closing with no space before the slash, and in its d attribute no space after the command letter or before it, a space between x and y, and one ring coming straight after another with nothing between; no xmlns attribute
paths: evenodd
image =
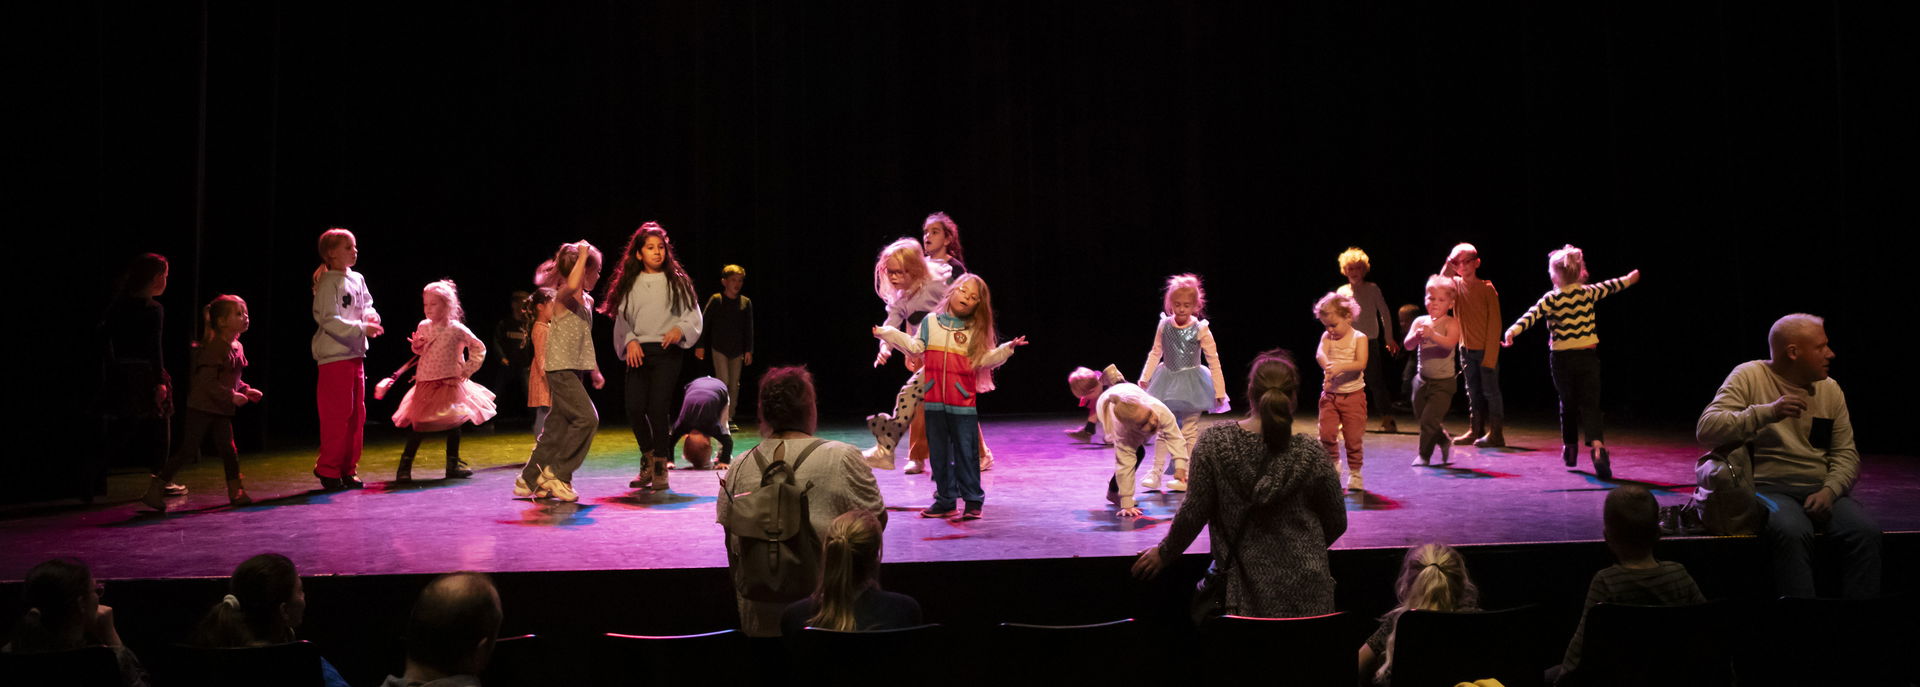
<svg viewBox="0 0 1920 687"><path fill-rule="evenodd" d="M879 251L879 259L874 261L874 294L887 303L887 320L881 326L914 336L927 313L933 313L941 305L941 299L947 297L947 282L933 276L918 240L900 238L887 244ZM887 342L881 342L879 355L874 357L874 367L887 365L891 357L893 349L887 347ZM910 430L914 438L925 434L918 416L924 395L920 359L908 357L906 368L912 370L912 376L895 393L893 413L866 416L866 428L874 432L874 447L860 455L877 470L893 470L893 451ZM906 474L925 472L925 464L918 459L922 443L914 443L914 457L906 462Z"/></svg>

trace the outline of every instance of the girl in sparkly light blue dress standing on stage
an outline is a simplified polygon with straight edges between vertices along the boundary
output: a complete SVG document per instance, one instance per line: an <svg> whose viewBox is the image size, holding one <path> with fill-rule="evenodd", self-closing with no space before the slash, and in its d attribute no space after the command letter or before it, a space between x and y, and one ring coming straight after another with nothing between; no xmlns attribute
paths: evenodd
<svg viewBox="0 0 1920 687"><path fill-rule="evenodd" d="M1140 386L1160 403L1165 403L1173 416L1181 420L1187 445L1200 439L1202 413L1227 413L1227 376L1219 370L1219 349L1213 345L1213 330L1200 319L1206 311L1206 290L1200 288L1198 274L1173 274L1164 292L1165 311L1160 313L1160 328L1154 330L1154 349L1146 353L1146 368L1140 370ZM1204 361L1202 361L1204 359ZM1169 447L1154 449L1154 470L1140 482L1146 489L1162 487L1162 470ZM1173 459L1173 478L1165 480L1167 491L1187 491L1187 461Z"/></svg>

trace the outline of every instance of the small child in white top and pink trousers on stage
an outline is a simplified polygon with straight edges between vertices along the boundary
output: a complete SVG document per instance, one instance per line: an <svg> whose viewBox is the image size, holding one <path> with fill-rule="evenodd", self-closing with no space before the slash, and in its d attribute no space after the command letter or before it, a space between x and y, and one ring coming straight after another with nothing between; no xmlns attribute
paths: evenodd
<svg viewBox="0 0 1920 687"><path fill-rule="evenodd" d="M1325 370L1319 399L1319 436L1327 457L1338 462L1346 438L1346 487L1361 491L1359 464L1365 462L1367 434L1367 334L1354 328L1359 303L1352 296L1329 292L1313 303L1313 317L1327 326L1313 359Z"/></svg>

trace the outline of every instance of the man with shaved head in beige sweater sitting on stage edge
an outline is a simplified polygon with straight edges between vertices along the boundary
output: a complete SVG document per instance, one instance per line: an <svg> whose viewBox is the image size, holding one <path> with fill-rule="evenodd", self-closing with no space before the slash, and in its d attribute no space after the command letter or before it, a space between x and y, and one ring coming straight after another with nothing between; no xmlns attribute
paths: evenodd
<svg viewBox="0 0 1920 687"><path fill-rule="evenodd" d="M1814 597L1812 539L1824 532L1845 557L1841 595L1878 597L1880 524L1849 495L1860 478L1860 451L1853 447L1847 395L1828 376L1834 347L1826 320L1782 317L1766 345L1770 359L1741 363L1720 382L1695 439L1709 449L1751 447L1780 595Z"/></svg>

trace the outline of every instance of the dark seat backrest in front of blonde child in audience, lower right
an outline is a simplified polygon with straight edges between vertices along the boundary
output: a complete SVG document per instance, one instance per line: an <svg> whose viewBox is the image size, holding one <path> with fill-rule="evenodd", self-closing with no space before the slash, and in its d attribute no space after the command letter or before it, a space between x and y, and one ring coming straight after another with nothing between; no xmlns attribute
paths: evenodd
<svg viewBox="0 0 1920 687"><path fill-rule="evenodd" d="M1394 674L1400 687L1457 685L1494 677L1501 685L1538 685L1542 666L1528 654L1540 631L1538 608L1484 612L1407 610L1394 629Z"/></svg>

